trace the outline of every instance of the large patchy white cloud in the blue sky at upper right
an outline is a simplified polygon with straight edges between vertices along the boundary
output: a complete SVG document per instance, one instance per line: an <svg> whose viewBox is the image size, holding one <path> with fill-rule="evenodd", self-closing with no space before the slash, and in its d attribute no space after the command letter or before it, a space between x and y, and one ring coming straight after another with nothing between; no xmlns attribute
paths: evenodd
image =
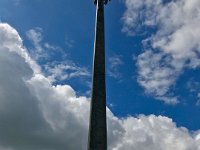
<svg viewBox="0 0 200 150"><path fill-rule="evenodd" d="M126 0L125 4L123 31L155 31L143 41L138 82L157 99L178 103L170 89L185 69L200 67L200 1Z"/></svg>

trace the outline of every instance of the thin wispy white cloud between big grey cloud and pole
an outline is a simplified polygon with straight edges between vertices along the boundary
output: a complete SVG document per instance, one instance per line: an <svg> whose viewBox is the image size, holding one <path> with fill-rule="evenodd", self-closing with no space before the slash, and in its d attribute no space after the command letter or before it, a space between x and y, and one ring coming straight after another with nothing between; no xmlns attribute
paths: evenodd
<svg viewBox="0 0 200 150"><path fill-rule="evenodd" d="M72 61L66 61L66 53L63 51L62 48L58 46L51 45L48 42L43 41L43 30L42 28L35 28L30 29L26 32L26 35L28 39L33 44L33 49L29 51L31 53L31 56L37 60L40 61L42 59L46 59L46 62L43 62L41 64L43 68L43 72L46 74L47 78L51 82L56 81L65 81L72 78L85 78L90 76L90 72L85 67L80 67L79 65L75 64ZM72 40L67 39L68 41L73 43ZM67 41L66 40L66 41ZM69 44L69 43L68 43ZM72 47L72 45L68 45L68 47ZM61 58L59 58L61 56ZM61 60L53 61L52 58L56 56L59 59L64 61L61 62ZM47 61L48 60L48 61ZM53 59L54 60L54 59Z"/></svg>

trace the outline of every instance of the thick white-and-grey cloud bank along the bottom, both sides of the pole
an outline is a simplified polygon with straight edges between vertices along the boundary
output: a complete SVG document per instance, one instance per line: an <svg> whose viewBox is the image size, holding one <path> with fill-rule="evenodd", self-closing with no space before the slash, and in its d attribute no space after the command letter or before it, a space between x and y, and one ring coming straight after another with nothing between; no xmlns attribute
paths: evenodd
<svg viewBox="0 0 200 150"><path fill-rule="evenodd" d="M0 149L85 150L88 98L70 85L53 86L10 25L0 24L0 42ZM107 116L109 150L200 150L199 132L168 117L120 119L109 109Z"/></svg>

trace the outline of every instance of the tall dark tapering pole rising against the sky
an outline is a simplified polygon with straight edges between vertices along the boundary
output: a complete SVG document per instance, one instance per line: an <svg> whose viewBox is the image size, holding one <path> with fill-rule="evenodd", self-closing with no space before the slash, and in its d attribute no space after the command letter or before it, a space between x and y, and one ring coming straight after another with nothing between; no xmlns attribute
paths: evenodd
<svg viewBox="0 0 200 150"><path fill-rule="evenodd" d="M107 150L104 5L108 0L94 0L94 2L96 33L88 150Z"/></svg>

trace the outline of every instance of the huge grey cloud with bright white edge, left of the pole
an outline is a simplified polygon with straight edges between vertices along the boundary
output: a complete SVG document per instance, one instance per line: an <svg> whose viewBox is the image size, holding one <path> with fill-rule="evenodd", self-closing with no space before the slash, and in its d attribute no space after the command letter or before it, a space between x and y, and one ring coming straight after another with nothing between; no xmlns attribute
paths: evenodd
<svg viewBox="0 0 200 150"><path fill-rule="evenodd" d="M1 24L0 39L0 147L84 149L87 98L77 97L70 86L52 86L36 72L37 68L30 65L33 60L20 55L28 53L15 29ZM79 142L73 143L77 138Z"/></svg>

